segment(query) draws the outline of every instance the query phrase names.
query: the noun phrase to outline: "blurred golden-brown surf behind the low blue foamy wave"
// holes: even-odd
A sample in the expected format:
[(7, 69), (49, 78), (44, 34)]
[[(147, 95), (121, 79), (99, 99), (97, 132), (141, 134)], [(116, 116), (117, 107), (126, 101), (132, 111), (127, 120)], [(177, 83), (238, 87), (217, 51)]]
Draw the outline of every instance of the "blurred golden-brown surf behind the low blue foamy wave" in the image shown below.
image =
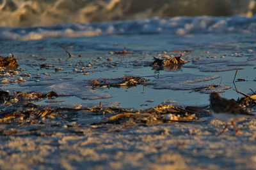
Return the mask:
[(0, 27), (255, 13), (256, 0), (0, 0)]

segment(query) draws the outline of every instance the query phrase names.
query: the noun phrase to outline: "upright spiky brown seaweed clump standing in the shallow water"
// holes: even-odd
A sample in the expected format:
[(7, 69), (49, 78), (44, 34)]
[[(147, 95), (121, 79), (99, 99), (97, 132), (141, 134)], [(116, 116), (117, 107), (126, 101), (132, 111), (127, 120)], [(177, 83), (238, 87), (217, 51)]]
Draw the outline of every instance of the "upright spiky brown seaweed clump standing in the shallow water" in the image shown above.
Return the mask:
[(188, 61), (181, 59), (182, 55), (173, 57), (172, 59), (159, 59), (154, 57), (154, 62), (152, 62), (152, 67), (156, 70), (177, 70), (180, 69), (183, 64)]

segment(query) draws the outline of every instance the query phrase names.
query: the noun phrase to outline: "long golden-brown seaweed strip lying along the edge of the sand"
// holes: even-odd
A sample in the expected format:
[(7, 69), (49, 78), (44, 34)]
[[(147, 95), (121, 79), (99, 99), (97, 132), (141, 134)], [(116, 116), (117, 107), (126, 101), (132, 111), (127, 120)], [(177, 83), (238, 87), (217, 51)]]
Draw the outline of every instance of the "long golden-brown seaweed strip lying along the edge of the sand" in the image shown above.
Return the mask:
[[(122, 124), (124, 127), (134, 127), (138, 125), (147, 126), (150, 124), (163, 124), (170, 122), (194, 122), (198, 118), (208, 116), (205, 110), (186, 110), (173, 105), (159, 104), (154, 108), (145, 110), (134, 110), (125, 108), (102, 107), (101, 104), (88, 108), (49, 108), (49, 106), (39, 106), (28, 103), (14, 103), (8, 110), (1, 111), (0, 122), (34, 124), (61, 118), (68, 122), (74, 122), (74, 118), (79, 111), (87, 111), (90, 115), (101, 117), (101, 121), (93, 123), (92, 126), (107, 124)], [(43, 122), (42, 122), (43, 121)]]

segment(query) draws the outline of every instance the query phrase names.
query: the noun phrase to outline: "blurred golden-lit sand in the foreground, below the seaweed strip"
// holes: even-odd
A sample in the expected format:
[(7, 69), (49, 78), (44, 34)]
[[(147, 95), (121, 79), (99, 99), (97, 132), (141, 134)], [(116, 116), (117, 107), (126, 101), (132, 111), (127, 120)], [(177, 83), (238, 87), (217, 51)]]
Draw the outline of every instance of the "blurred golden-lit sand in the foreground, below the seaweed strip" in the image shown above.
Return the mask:
[(1, 123), (0, 169), (256, 167), (256, 118), (237, 122), (239, 136), (234, 136), (232, 126), (218, 136), (225, 123), (212, 117), (132, 127), (88, 125), (93, 118), (88, 122), (85, 117), (81, 112), (70, 121)]

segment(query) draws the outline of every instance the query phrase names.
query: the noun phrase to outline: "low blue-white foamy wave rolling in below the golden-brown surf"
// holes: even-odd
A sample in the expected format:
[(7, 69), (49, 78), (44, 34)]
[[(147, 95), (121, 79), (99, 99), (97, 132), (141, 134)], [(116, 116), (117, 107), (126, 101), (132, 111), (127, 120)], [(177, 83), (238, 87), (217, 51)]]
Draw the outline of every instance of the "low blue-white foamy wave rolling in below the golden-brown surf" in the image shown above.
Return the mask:
[(35, 40), (74, 38), (109, 34), (199, 34), (256, 32), (256, 15), (243, 17), (171, 17), (95, 22), (92, 24), (58, 24), (48, 27), (0, 27), (0, 40)]

